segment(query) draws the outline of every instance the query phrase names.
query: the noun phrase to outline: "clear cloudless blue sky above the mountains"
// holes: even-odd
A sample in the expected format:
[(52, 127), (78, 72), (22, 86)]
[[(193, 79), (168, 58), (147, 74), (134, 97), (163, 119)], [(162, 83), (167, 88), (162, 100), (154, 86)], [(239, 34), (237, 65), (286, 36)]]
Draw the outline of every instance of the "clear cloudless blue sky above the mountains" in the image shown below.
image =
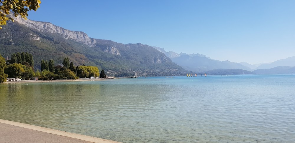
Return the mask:
[(41, 1), (29, 19), (92, 38), (250, 64), (295, 56), (294, 0)]

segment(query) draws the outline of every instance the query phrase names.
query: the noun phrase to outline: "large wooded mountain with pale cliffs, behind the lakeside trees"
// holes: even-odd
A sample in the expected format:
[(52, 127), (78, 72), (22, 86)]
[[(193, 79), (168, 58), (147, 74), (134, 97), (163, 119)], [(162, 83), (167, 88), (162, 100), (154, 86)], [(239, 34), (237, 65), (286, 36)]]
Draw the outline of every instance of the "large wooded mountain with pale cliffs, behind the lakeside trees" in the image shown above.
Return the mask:
[[(10, 15), (12, 16), (12, 15)], [(29, 52), (35, 68), (40, 69), (41, 59), (61, 64), (68, 56), (74, 65), (98, 66), (116, 76), (144, 74), (182, 75), (186, 71), (165, 54), (151, 46), (122, 44), (111, 40), (95, 39), (80, 31), (71, 31), (49, 22), (24, 20), (14, 17), (0, 30), (0, 54), (10, 58), (12, 53)]]

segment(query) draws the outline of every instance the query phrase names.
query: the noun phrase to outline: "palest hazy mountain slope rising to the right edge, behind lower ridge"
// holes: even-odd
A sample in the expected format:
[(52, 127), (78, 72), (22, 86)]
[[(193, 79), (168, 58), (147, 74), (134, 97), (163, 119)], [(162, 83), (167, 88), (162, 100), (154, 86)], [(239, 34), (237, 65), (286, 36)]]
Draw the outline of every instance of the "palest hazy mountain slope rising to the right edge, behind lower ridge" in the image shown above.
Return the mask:
[(287, 59), (277, 60), (269, 64), (261, 64), (256, 69), (271, 69), (277, 66), (295, 66), (295, 56), (289, 57)]

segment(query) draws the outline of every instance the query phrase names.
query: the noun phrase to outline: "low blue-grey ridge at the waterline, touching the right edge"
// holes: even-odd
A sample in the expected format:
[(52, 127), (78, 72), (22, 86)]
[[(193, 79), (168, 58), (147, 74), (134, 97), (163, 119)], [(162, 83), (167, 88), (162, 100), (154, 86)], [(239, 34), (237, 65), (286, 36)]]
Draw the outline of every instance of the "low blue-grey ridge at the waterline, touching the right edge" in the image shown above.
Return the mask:
[(295, 66), (277, 66), (271, 69), (257, 69), (256, 74), (295, 74)]

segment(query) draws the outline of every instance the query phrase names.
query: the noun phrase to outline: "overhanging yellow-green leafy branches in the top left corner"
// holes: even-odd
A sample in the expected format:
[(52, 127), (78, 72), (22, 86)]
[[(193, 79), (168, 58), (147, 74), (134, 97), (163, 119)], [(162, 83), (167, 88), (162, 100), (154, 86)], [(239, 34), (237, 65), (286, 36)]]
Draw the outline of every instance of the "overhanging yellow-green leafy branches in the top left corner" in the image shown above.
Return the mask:
[(27, 19), (28, 11), (36, 11), (40, 7), (40, 0), (1, 0), (0, 1), (0, 29), (1, 25), (5, 25), (7, 20), (13, 20), (8, 14), (13, 12), (14, 16)]

